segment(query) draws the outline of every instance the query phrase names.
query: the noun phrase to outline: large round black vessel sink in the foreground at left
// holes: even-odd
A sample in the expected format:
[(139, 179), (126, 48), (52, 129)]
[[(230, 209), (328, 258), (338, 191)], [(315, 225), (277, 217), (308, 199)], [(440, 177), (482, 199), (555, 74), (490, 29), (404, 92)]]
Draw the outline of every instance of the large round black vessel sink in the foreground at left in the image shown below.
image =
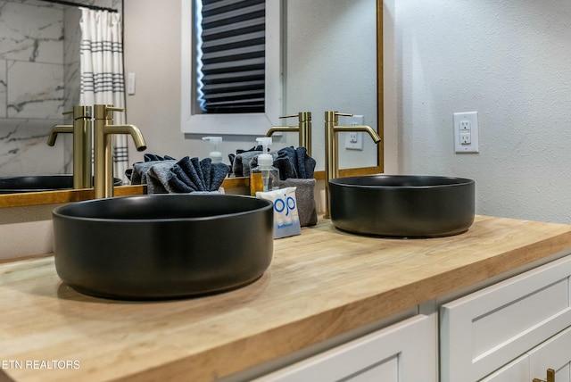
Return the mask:
[(273, 208), (241, 195), (138, 195), (53, 213), (55, 268), (79, 292), (148, 300), (204, 295), (260, 278)]

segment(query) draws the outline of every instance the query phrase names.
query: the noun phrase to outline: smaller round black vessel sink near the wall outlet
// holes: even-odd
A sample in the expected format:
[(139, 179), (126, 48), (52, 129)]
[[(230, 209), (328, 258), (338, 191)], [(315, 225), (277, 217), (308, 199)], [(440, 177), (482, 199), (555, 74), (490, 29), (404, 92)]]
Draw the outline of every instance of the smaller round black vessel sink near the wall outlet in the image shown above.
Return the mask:
[(329, 181), (330, 217), (336, 228), (383, 237), (446, 237), (474, 222), (471, 179), (372, 175)]

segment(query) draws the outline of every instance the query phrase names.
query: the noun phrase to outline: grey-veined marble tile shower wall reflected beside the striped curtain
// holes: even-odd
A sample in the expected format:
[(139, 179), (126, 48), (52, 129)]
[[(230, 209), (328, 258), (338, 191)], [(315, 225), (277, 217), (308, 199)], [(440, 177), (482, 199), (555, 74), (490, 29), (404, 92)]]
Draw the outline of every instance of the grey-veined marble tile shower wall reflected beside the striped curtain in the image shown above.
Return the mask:
[[(121, 0), (76, 3), (121, 9)], [(0, 0), (0, 177), (71, 172), (70, 135), (46, 141), (79, 104), (79, 18), (76, 7)]]

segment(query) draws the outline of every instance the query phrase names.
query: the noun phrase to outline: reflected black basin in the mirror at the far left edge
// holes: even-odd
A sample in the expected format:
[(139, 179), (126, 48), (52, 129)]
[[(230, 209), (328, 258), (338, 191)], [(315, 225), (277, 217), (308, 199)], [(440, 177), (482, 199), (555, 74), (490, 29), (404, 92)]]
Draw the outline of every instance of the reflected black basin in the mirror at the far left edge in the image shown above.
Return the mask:
[[(115, 186), (122, 184), (121, 179), (115, 178)], [(30, 175), (0, 178), (0, 194), (54, 191), (67, 188), (73, 188), (73, 175)]]

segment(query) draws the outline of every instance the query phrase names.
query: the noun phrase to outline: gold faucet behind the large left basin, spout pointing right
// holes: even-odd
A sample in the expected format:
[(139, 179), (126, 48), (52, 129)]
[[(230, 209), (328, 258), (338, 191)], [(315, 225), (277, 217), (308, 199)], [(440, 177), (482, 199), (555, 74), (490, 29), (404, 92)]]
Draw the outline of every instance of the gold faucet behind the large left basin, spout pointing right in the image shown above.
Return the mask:
[(145, 138), (134, 125), (113, 125), (113, 112), (124, 109), (111, 104), (95, 104), (95, 198), (113, 196), (113, 134), (129, 134), (137, 151), (146, 150)]

